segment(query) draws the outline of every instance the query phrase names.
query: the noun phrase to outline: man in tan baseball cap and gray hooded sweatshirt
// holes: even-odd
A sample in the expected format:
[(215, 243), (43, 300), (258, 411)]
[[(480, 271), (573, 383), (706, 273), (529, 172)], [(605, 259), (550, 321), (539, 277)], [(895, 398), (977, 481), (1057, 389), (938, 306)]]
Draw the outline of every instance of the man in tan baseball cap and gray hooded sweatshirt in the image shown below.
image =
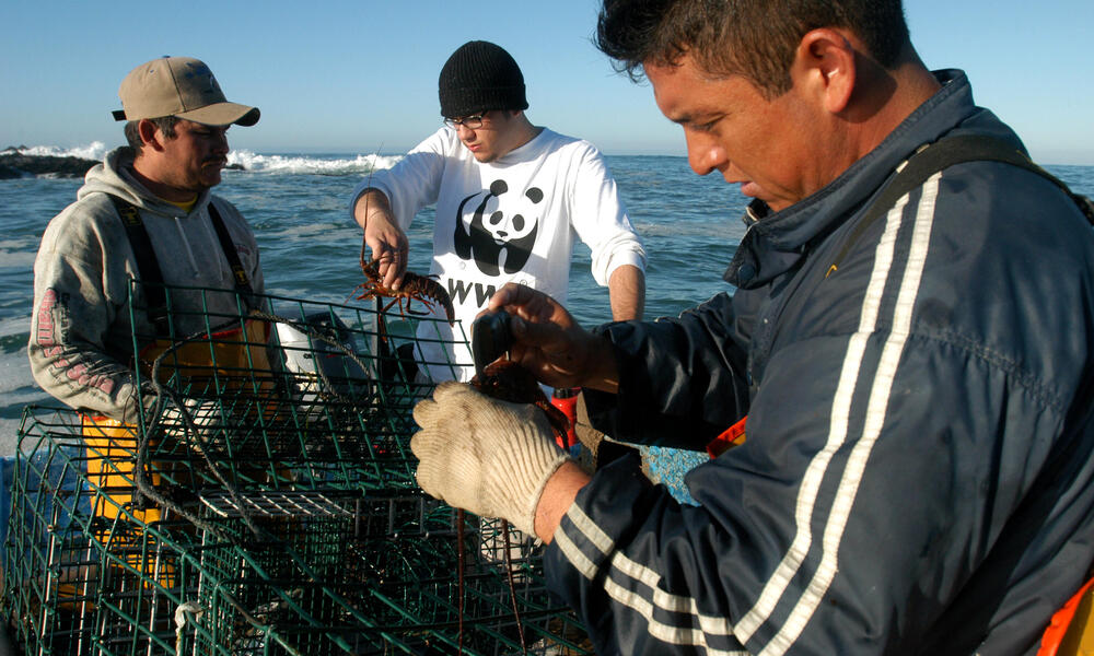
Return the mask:
[[(114, 117), (127, 121), (129, 145), (88, 172), (42, 237), (28, 354), (47, 393), (132, 424), (150, 406), (130, 364), (133, 336), (208, 330), (209, 317), (238, 315), (241, 295), (263, 292), (254, 233), (210, 194), (228, 163), (229, 127), (255, 125), (259, 113), (228, 102), (209, 67), (189, 57), (137, 67), (118, 95)], [(164, 285), (225, 291), (170, 290), (167, 320)]]

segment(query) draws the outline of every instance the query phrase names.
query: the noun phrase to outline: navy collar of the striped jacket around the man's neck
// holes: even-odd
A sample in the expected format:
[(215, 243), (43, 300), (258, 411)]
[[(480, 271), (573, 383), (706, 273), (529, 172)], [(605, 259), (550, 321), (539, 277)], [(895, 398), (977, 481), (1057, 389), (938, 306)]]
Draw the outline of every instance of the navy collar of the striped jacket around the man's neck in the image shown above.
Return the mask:
[(935, 71), (942, 84), (882, 143), (805, 200), (771, 212), (761, 200), (749, 203), (744, 238), (722, 276), (742, 289), (763, 286), (798, 263), (806, 246), (828, 234), (873, 196), (920, 145), (936, 141), (977, 110), (965, 73)]

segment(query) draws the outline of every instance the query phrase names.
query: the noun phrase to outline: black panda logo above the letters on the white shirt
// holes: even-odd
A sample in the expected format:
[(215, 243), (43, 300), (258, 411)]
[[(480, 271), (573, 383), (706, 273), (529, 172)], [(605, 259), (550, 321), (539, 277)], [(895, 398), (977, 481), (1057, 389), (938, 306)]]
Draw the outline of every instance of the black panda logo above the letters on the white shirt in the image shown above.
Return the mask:
[[(523, 269), (532, 257), (532, 247), (539, 232), (536, 206), (544, 199), (543, 190), (532, 187), (523, 197), (507, 196), (503, 210), (502, 196), (508, 191), (505, 180), (494, 180), (488, 190), (465, 198), (456, 212), (453, 239), (456, 255), (465, 260), (475, 260), (479, 271), (486, 276), (500, 276), (501, 271), (515, 273)], [(470, 224), (464, 227), (464, 208), (480, 196)]]

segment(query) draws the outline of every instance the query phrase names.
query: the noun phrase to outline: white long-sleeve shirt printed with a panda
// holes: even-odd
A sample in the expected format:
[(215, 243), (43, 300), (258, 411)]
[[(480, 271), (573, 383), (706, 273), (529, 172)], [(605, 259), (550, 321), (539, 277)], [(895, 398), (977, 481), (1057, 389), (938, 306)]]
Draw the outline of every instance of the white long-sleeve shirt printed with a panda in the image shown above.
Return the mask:
[[(430, 273), (452, 297), (456, 342), (469, 335), (475, 316), (508, 282), (565, 303), (574, 236), (592, 250), (593, 279), (602, 286), (620, 266), (645, 269), (645, 249), (600, 151), (548, 129), (504, 156), (480, 163), (455, 130), (444, 127), (392, 168), (362, 180), (351, 213), (368, 188), (387, 196), (404, 231), (422, 208), (437, 206)], [(444, 325), (422, 328), (433, 332), (419, 335), (429, 376), (469, 379), (474, 371), (466, 347), (454, 352), (430, 348), (435, 342), (429, 340), (453, 337)]]

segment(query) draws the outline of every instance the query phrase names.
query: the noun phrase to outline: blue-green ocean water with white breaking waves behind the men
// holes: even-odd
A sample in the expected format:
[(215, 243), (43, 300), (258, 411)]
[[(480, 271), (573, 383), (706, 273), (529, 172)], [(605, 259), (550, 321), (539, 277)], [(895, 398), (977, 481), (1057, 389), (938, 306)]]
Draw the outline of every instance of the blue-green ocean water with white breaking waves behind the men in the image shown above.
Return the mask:
[[(106, 147), (30, 154), (101, 159)], [(373, 167), (393, 154), (290, 154), (235, 151), (217, 192), (251, 222), (261, 250), (269, 293), (344, 302), (360, 282), (361, 231), (348, 213), (349, 195)], [(744, 234), (747, 198), (720, 176), (699, 177), (679, 156), (607, 156), (631, 221), (645, 244), (648, 319), (676, 316), (710, 296), (732, 291), (722, 272)], [(1094, 196), (1094, 166), (1048, 166), (1075, 191)], [(80, 179), (0, 180), (0, 456), (14, 453), (24, 406), (51, 402), (35, 385), (26, 360), (33, 263), (49, 220), (75, 199)], [(428, 272), (432, 210), (409, 232), (410, 269)], [(569, 309), (592, 326), (610, 318), (607, 290), (589, 272), (589, 249), (579, 244), (570, 279)]]

